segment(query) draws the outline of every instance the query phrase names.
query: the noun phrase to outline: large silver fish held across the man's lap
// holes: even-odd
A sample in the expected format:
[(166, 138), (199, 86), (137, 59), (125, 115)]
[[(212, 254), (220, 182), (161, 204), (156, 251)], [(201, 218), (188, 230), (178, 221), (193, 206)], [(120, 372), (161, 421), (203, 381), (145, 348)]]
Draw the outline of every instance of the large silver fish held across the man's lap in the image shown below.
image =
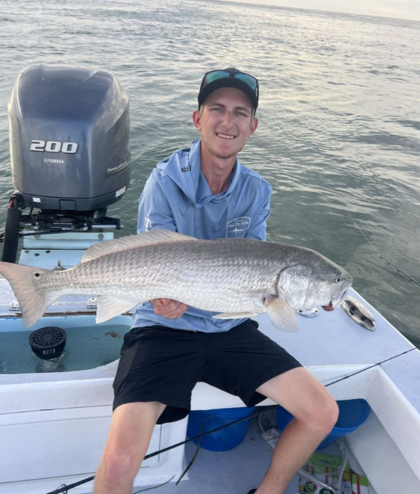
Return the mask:
[(30, 327), (60, 297), (93, 294), (96, 322), (151, 299), (174, 299), (217, 319), (267, 312), (279, 330), (296, 332), (296, 311), (334, 310), (353, 278), (309, 248), (246, 238), (203, 240), (154, 229), (94, 244), (79, 264), (47, 270), (0, 262)]

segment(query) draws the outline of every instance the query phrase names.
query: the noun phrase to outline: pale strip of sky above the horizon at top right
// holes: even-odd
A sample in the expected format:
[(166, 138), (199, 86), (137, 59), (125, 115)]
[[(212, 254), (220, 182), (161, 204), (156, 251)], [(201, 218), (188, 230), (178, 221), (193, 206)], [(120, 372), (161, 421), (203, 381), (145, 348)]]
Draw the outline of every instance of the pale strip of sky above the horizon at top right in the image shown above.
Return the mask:
[(420, 0), (229, 0), (420, 21)]

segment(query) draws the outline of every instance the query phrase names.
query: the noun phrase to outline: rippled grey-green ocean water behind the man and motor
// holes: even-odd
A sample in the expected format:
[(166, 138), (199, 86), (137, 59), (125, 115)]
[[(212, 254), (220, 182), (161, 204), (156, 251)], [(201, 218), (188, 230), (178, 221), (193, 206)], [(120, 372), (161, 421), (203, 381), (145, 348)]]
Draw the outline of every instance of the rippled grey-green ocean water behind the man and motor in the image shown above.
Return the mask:
[(204, 72), (261, 84), (241, 161), (271, 182), (268, 237), (313, 248), (420, 343), (420, 23), (216, 0), (0, 0), (0, 224), (13, 191), (7, 103), (34, 63), (108, 69), (131, 102), (132, 180), (109, 208), (135, 233), (155, 164), (197, 137)]

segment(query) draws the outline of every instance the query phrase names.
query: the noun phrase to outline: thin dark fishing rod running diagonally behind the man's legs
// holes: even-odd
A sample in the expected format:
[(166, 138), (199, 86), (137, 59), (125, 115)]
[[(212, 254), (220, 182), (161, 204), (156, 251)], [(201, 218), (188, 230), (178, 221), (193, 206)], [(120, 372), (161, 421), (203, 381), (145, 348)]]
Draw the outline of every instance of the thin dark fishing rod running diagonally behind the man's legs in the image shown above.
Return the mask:
[[(349, 374), (348, 376), (344, 376), (344, 377), (342, 377), (340, 379), (334, 380), (332, 383), (329, 383), (329, 384), (324, 385), (324, 387), (328, 387), (328, 386), (332, 386), (333, 384), (340, 383), (340, 381), (342, 381), (344, 379), (349, 379), (349, 378), (351, 378), (353, 376), (356, 376), (357, 374), (361, 374), (362, 372), (367, 371), (368, 369), (372, 369), (373, 367), (377, 367), (378, 365), (382, 365), (383, 363), (392, 361), (394, 358), (397, 358), (397, 357), (399, 357), (401, 355), (408, 354), (408, 353), (412, 352), (413, 350), (420, 350), (420, 347), (413, 347), (410, 350), (406, 350), (406, 352), (402, 352), (401, 354), (397, 354), (397, 355), (394, 355), (393, 357), (386, 358), (384, 361), (380, 361), (380, 362), (378, 362), (376, 364), (369, 365), (369, 367), (365, 367), (364, 369), (362, 369), (360, 371), (353, 372), (353, 374)], [(173, 444), (172, 446), (168, 446), (167, 448), (159, 449), (159, 451), (155, 451), (154, 453), (150, 453), (149, 455), (146, 455), (144, 457), (144, 460), (148, 460), (148, 458), (153, 458), (153, 456), (157, 456), (157, 455), (159, 455), (161, 453), (166, 453), (167, 451), (170, 451), (171, 449), (175, 449), (175, 448), (177, 448), (179, 446), (183, 446), (184, 444), (187, 444), (188, 442), (195, 441), (195, 440), (199, 440), (200, 441), (203, 436), (208, 436), (208, 434), (212, 434), (214, 432), (221, 431), (222, 429), (225, 429), (226, 427), (230, 427), (231, 425), (239, 424), (239, 422), (243, 422), (243, 420), (250, 420), (250, 418), (254, 418), (254, 417), (256, 417), (256, 416), (258, 416), (260, 414), (264, 414), (266, 411), (274, 410), (278, 406), (279, 405), (267, 405), (267, 407), (263, 407), (263, 409), (253, 411), (250, 415), (248, 415), (246, 417), (243, 417), (243, 418), (239, 418), (237, 420), (234, 420), (234, 422), (229, 422), (229, 424), (221, 425), (221, 427), (216, 427), (215, 429), (212, 429), (211, 431), (200, 433), (199, 436), (195, 436), (195, 438), (189, 438), (189, 439), (187, 439), (185, 441), (177, 442), (177, 444)], [(80, 486), (82, 484), (85, 484), (86, 482), (90, 482), (94, 478), (95, 478), (95, 475), (93, 475), (91, 477), (88, 477), (86, 479), (80, 480), (79, 482), (74, 482), (74, 484), (69, 484), (68, 486), (66, 486), (65, 484), (63, 484), (63, 486), (60, 486), (55, 491), (51, 491), (51, 492), (49, 492), (47, 494), (62, 494), (62, 493), (67, 493), (67, 491), (69, 491), (70, 489), (72, 489), (74, 487), (77, 487), (77, 486)]]

